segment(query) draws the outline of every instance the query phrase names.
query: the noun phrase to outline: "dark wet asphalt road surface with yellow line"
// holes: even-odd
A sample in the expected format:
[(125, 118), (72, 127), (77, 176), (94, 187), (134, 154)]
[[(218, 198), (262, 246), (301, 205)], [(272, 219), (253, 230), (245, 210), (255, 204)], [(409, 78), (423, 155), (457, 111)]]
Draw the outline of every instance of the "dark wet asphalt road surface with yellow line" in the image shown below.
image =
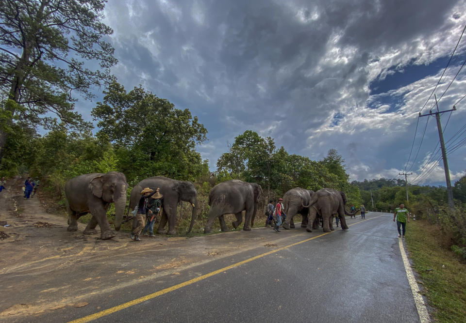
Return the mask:
[[(276, 239), (277, 246), (256, 241), (246, 251), (90, 295), (83, 308), (27, 321), (67, 322), (98, 313), (95, 322), (419, 322), (392, 219), (369, 213), (366, 220), (348, 219), (348, 231), (327, 234), (263, 228), (188, 239), (205, 244), (254, 235)], [(141, 262), (147, 257), (138, 255)]]

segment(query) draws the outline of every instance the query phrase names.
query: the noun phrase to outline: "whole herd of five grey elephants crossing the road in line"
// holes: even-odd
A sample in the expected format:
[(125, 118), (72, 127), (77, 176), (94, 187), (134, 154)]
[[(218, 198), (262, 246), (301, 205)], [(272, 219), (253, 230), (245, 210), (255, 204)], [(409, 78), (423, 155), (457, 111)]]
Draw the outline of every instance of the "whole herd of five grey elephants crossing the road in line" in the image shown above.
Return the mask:
[[(170, 178), (155, 176), (140, 181), (131, 190), (129, 210), (133, 210), (140, 198), (140, 192), (144, 187), (155, 190), (159, 187), (163, 194), (162, 217), (160, 219), (159, 234), (175, 234), (177, 205), (180, 201), (186, 201), (192, 205), (191, 224), (188, 233), (192, 230), (198, 209), (197, 190), (189, 181), (177, 181)], [(115, 230), (120, 230), (125, 213), (126, 191), (128, 183), (121, 172), (92, 173), (74, 177), (65, 185), (67, 199), (68, 231), (77, 231), (77, 220), (80, 216), (90, 213), (92, 215), (83, 234), (95, 234), (96, 226), (100, 226), (100, 238), (111, 239), (115, 232), (110, 228), (107, 220), (107, 210), (111, 203), (115, 203)], [(262, 187), (255, 183), (246, 183), (239, 180), (230, 180), (217, 184), (209, 193), (210, 211), (204, 233), (212, 231), (214, 220), (218, 217), (222, 231), (230, 231), (224, 219), (226, 214), (234, 214), (236, 221), (232, 222), (233, 228), (237, 228), (243, 222), (242, 212), (245, 211), (245, 223), (243, 230), (250, 231), (254, 225), (257, 213), (259, 197)], [(283, 196), (285, 214), (288, 216), (283, 223), (284, 229), (294, 228), (294, 215), (301, 214), (303, 221), (301, 227), (312, 232), (317, 229), (316, 216), (323, 218), (323, 230), (330, 232), (333, 229), (333, 215), (338, 215), (341, 227), (347, 230), (345, 210), (346, 195), (344, 192), (330, 188), (324, 188), (317, 192), (297, 187), (290, 189)], [(308, 219), (308, 220), (306, 220)], [(165, 227), (168, 223), (168, 231)]]

